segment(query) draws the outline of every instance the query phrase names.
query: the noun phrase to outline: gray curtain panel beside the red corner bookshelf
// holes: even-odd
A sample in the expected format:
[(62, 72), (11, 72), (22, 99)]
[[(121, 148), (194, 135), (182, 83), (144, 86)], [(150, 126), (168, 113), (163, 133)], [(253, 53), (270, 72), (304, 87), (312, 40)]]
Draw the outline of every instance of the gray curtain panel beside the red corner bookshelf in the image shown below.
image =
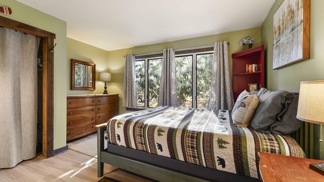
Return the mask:
[(232, 80), (229, 74), (228, 43), (214, 45), (213, 77), (208, 109), (232, 110), (234, 106)]

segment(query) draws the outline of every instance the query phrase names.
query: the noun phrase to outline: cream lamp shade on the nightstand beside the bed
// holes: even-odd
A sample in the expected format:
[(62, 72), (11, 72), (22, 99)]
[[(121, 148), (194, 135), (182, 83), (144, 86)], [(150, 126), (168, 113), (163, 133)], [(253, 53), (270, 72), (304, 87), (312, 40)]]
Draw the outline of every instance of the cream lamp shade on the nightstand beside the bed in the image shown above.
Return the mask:
[(297, 119), (324, 124), (324, 81), (300, 83)]

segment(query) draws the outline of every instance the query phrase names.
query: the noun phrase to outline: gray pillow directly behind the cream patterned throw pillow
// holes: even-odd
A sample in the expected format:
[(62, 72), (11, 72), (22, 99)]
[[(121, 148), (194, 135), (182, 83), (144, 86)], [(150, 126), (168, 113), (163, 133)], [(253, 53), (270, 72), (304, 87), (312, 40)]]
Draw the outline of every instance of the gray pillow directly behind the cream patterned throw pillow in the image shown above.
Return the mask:
[(276, 120), (281, 121), (278, 116), (286, 111), (288, 105), (286, 99), (290, 95), (292, 94), (286, 91), (271, 91), (261, 88), (257, 94), (259, 106), (250, 126), (256, 131), (270, 133), (271, 124)]

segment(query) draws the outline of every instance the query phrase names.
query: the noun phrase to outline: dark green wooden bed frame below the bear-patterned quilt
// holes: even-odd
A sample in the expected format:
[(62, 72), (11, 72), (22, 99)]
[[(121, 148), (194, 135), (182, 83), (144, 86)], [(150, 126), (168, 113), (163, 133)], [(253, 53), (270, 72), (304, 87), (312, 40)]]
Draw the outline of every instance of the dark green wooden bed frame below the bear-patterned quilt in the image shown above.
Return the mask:
[[(112, 153), (108, 152), (107, 149), (104, 149), (104, 142), (107, 142), (104, 139), (104, 131), (106, 129), (106, 123), (97, 125), (97, 138), (98, 138), (98, 177), (103, 176), (103, 167), (104, 163), (119, 167), (121, 169), (157, 180), (157, 181), (259, 181), (257, 178), (252, 178), (244, 175), (234, 174), (230, 172), (225, 172), (221, 170), (211, 169), (195, 164), (190, 164), (187, 162), (167, 158), (164, 156), (158, 156), (161, 160), (168, 160), (168, 162), (165, 162), (165, 164), (155, 165), (149, 162), (143, 162), (141, 160), (135, 160), (130, 157), (127, 157), (126, 155), (123, 155), (123, 152)], [(119, 148), (118, 148), (119, 147)], [(136, 151), (137, 153), (135, 155), (141, 155), (142, 153), (145, 153), (146, 155), (154, 155), (155, 154), (149, 154), (143, 151), (137, 151), (134, 149), (128, 149), (121, 146), (116, 146), (117, 150), (120, 149), (120, 151)], [(125, 154), (125, 152), (124, 152)], [(177, 165), (170, 165), (173, 164), (172, 162), (177, 163)], [(188, 171), (179, 169), (177, 166), (189, 166)], [(192, 166), (194, 166), (192, 168)], [(191, 169), (190, 169), (191, 168)], [(201, 175), (201, 173), (197, 172), (196, 175), (192, 175), (192, 173), (195, 173), (196, 171), (194, 168), (204, 168), (203, 170), (206, 170), (204, 175)], [(208, 177), (206, 177), (206, 175)]]

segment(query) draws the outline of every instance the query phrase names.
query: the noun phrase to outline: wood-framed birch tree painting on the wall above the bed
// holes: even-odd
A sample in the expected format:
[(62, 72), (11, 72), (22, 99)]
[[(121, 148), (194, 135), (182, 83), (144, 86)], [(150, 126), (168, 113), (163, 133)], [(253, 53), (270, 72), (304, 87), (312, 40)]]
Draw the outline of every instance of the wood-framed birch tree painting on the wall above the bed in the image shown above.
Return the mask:
[(284, 0), (273, 15), (273, 69), (309, 59), (310, 0)]

